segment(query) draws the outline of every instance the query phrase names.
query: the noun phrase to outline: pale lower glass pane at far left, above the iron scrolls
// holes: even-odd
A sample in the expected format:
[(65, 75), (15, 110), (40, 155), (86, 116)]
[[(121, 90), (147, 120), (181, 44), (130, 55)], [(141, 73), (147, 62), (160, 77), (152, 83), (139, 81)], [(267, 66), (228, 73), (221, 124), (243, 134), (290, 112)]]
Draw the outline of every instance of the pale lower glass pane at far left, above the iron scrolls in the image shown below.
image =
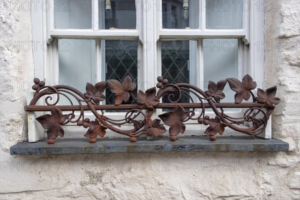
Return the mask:
[[(59, 84), (84, 93), (86, 82), (95, 83), (95, 40), (58, 39), (58, 66)], [(69, 104), (66, 98), (60, 101)]]

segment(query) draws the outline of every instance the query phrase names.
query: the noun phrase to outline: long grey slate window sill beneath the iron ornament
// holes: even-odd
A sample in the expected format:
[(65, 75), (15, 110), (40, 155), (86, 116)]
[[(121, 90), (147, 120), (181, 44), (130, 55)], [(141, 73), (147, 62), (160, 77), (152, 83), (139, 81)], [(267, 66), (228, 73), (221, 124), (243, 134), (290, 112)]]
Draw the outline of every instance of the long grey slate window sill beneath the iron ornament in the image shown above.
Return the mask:
[(219, 136), (210, 141), (208, 136), (181, 136), (176, 141), (168, 137), (156, 140), (137, 138), (56, 139), (54, 144), (46, 141), (21, 142), (10, 147), (11, 155), (64, 154), (64, 153), (112, 153), (112, 152), (159, 152), (159, 151), (236, 151), (236, 150), (288, 150), (288, 143), (280, 139), (263, 139), (257, 136)]

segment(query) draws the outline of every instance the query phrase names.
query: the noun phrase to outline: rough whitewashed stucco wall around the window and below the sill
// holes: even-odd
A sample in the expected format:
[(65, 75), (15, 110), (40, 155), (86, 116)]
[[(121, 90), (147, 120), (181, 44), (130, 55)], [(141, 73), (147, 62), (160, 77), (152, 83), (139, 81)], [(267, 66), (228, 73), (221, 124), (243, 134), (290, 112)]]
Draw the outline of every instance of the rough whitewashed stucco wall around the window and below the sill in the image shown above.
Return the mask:
[[(1, 43), (0, 198), (299, 199), (300, 3), (267, 3), (265, 80), (281, 98), (272, 132), (289, 151), (11, 156), (9, 147), (26, 140), (22, 82), (34, 68), (32, 51)], [(1, 10), (0, 28), (1, 41), (30, 41), (30, 12)]]

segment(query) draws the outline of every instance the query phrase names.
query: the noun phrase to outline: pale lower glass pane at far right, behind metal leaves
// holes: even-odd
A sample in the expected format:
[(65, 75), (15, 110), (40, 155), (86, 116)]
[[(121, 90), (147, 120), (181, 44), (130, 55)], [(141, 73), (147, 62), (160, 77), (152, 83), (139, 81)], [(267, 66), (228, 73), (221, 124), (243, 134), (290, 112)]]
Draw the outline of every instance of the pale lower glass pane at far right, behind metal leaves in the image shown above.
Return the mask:
[[(204, 82), (207, 90), (208, 81), (215, 83), (229, 77), (238, 78), (238, 40), (236, 38), (203, 39)], [(226, 84), (223, 90), (225, 98), (221, 102), (234, 102), (234, 94)], [(231, 109), (232, 110), (232, 109)]]

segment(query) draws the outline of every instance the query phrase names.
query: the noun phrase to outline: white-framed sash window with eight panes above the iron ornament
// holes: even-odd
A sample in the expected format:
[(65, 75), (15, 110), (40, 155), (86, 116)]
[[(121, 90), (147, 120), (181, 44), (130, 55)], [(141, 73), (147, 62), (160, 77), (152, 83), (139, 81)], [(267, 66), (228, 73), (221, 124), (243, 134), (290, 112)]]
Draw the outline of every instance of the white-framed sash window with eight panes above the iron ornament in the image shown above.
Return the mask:
[[(86, 82), (129, 75), (137, 92), (155, 86), (162, 75), (205, 91), (208, 80), (241, 79), (246, 73), (262, 84), (263, 51), (257, 42), (263, 44), (264, 13), (257, 5), (263, 0), (46, 2), (49, 10), (32, 13), (32, 34), (48, 43), (49, 50), (33, 53), (35, 76), (50, 84), (84, 92)], [(228, 92), (224, 101), (233, 101), (233, 95)], [(112, 104), (113, 95), (106, 91), (105, 96), (102, 103)], [(181, 102), (188, 101), (182, 96)]]

